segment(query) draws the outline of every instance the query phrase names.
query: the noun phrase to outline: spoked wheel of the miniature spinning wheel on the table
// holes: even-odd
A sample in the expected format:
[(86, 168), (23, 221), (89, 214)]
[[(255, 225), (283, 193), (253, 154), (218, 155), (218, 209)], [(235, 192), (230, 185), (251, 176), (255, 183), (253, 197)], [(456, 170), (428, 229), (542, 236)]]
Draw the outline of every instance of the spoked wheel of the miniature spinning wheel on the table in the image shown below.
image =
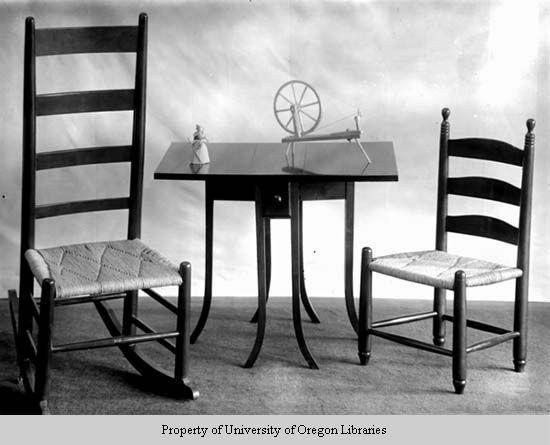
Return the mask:
[[(294, 88), (295, 85), (300, 85), (300, 90), (298, 91), (299, 99), (296, 97), (297, 90)], [(292, 90), (292, 95), (283, 94), (283, 91), (290, 87)], [(302, 101), (306, 97), (306, 93), (310, 92), (310, 94), (313, 94), (314, 100), (311, 102), (308, 102), (306, 104), (302, 104)], [(285, 102), (288, 103), (288, 108), (280, 108), (277, 109), (277, 102), (279, 98), (282, 98)], [(294, 102), (292, 101), (294, 100)], [(317, 105), (317, 111), (313, 112), (313, 115), (311, 113), (311, 110), (304, 111), (302, 108), (307, 107), (314, 107)], [(283, 130), (285, 130), (287, 133), (290, 134), (296, 134), (294, 130), (293, 125), (293, 108), (292, 107), (298, 107), (298, 115), (302, 114), (306, 116), (310, 121), (313, 121), (313, 124), (311, 126), (305, 126), (304, 129), (303, 122), (301, 121), (301, 127), (303, 131), (301, 132), (301, 135), (306, 135), (308, 133), (311, 133), (314, 131), (319, 123), (321, 122), (321, 115), (322, 115), (322, 107), (321, 107), (321, 99), (319, 98), (319, 95), (317, 94), (317, 91), (308, 84), (307, 82), (304, 82), (303, 80), (289, 80), (288, 82), (283, 83), (277, 92), (275, 93), (275, 98), (273, 99), (273, 113), (275, 114), (275, 119), (277, 119), (277, 122), (281, 126)], [(313, 110), (314, 108), (312, 108)], [(290, 113), (290, 119), (284, 123), (283, 120), (280, 118), (280, 114), (282, 113)]]

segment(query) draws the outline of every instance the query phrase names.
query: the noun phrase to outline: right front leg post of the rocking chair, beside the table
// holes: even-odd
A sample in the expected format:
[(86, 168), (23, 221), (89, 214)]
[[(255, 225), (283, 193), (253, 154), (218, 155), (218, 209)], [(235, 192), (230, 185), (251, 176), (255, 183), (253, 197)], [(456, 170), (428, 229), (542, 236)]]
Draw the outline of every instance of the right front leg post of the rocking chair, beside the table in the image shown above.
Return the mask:
[(182, 283), (178, 287), (178, 313), (176, 329), (176, 360), (174, 378), (184, 380), (189, 373), (189, 322), (191, 319), (191, 264), (180, 264), (179, 273)]

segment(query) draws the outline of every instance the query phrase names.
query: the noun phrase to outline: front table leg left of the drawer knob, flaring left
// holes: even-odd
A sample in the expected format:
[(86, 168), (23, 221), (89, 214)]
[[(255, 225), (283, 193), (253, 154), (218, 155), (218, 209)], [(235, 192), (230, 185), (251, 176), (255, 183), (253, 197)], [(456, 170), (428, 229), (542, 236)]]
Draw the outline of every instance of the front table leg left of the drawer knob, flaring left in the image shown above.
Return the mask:
[(256, 341), (252, 351), (244, 364), (245, 368), (254, 366), (258, 358), (265, 334), (266, 302), (267, 302), (267, 270), (266, 270), (266, 221), (262, 215), (262, 195), (260, 188), (256, 187), (256, 244), (258, 257), (258, 323), (256, 327)]

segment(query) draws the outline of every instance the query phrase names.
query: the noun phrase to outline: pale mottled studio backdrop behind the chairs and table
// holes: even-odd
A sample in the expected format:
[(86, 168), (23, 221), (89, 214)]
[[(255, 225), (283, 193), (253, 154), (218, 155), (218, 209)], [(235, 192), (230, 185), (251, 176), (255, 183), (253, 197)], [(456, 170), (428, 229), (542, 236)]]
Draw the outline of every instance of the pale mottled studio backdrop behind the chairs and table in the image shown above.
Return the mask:
[[(531, 299), (550, 301), (545, 292), (550, 287), (550, 5), (545, 1), (0, 2), (0, 297), (17, 286), (19, 274), (25, 17), (33, 16), (37, 28), (136, 25), (142, 11), (149, 15), (142, 238), (173, 262), (192, 263), (193, 295), (204, 287), (204, 185), (154, 180), (153, 172), (169, 145), (191, 138), (196, 124), (210, 142), (280, 141), (285, 134), (273, 115), (273, 97), (284, 82), (300, 79), (319, 93), (326, 131), (352, 128), (349, 116), (360, 109), (362, 140), (394, 143), (399, 181), (356, 186), (356, 292), (361, 247), (383, 255), (435, 246), (443, 107), (451, 109), (451, 137), (495, 138), (518, 147), (526, 119), (535, 118)], [(132, 88), (134, 63), (129, 54), (43, 57), (37, 63), (38, 93)], [(131, 113), (115, 114), (116, 119), (102, 113), (40, 118), (37, 150), (128, 144)], [(453, 161), (451, 173), (474, 176), (472, 165)], [(124, 196), (127, 168), (40, 171), (38, 203)], [(519, 184), (513, 167), (499, 168), (500, 179)], [(469, 213), (517, 225), (514, 206), (477, 201), (472, 208), (469, 200)], [(451, 197), (456, 213), (463, 204)], [(38, 221), (37, 246), (121, 239), (126, 217), (126, 211), (117, 211)], [(256, 294), (254, 224), (252, 203), (216, 203), (215, 296)], [(343, 228), (342, 202), (305, 204), (311, 296), (343, 296)], [(272, 236), (271, 294), (289, 296), (288, 221), (275, 221)], [(449, 250), (515, 264), (513, 246), (496, 241), (451, 234)], [(374, 286), (375, 295), (384, 288), (378, 294), (431, 297), (429, 289), (382, 276)], [(511, 286), (472, 294), (498, 300), (513, 295)]]

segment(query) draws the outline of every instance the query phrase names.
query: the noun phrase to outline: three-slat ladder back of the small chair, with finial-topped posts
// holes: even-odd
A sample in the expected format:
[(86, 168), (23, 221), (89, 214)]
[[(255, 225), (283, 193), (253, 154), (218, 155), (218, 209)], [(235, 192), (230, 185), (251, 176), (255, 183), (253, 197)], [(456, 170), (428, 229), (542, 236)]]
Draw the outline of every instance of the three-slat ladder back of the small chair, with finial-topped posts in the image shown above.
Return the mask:
[[(437, 199), (436, 249), (447, 250), (447, 232), (474, 235), (513, 244), (517, 249), (517, 267), (528, 276), (531, 202), (533, 190), (534, 119), (526, 122), (523, 150), (494, 139), (450, 139), (448, 108), (441, 111), (439, 138), (439, 181)], [(521, 186), (491, 177), (449, 177), (451, 156), (501, 162), (521, 168)], [(491, 166), (488, 165), (488, 168)], [(489, 199), (519, 207), (517, 224), (482, 215), (449, 216), (448, 195)]]

